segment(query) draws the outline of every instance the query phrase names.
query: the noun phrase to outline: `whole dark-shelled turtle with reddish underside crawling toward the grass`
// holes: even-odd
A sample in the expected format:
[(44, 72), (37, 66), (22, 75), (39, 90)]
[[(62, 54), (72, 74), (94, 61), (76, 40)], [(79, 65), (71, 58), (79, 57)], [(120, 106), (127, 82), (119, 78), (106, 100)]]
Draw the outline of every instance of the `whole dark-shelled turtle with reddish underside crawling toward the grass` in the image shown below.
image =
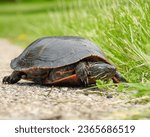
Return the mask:
[(29, 80), (40, 85), (90, 86), (97, 80), (127, 82), (92, 41), (79, 36), (47, 36), (11, 60), (4, 84)]

